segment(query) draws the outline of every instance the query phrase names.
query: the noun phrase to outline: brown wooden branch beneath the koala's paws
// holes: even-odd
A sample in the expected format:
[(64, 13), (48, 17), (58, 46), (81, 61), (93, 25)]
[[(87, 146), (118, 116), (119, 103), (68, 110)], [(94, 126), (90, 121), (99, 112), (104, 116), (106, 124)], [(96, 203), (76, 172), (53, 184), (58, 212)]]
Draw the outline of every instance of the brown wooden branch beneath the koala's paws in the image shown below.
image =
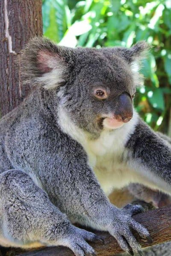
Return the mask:
[[(162, 207), (156, 210), (148, 211), (146, 213), (137, 214), (133, 217), (136, 221), (141, 223), (143, 226), (145, 226), (148, 231), (150, 232), (151, 237), (153, 238), (154, 244), (160, 244), (166, 241), (171, 241), (171, 206)], [(94, 232), (94, 231), (93, 231)], [(111, 235), (109, 235), (106, 232), (97, 232), (98, 235), (104, 235), (105, 238), (105, 244), (102, 242), (97, 243), (90, 243), (95, 251), (97, 252), (97, 255), (99, 256), (112, 256), (117, 253), (121, 253), (122, 250), (118, 246), (115, 238), (113, 238)], [(134, 233), (137, 240), (141, 241), (139, 238), (139, 235)], [(147, 247), (149, 244), (140, 242), (142, 247)], [(41, 248), (36, 251), (31, 251), (27, 253), (19, 254), (22, 256), (73, 256), (74, 253), (71, 252), (68, 248), (65, 247), (46, 247)]]

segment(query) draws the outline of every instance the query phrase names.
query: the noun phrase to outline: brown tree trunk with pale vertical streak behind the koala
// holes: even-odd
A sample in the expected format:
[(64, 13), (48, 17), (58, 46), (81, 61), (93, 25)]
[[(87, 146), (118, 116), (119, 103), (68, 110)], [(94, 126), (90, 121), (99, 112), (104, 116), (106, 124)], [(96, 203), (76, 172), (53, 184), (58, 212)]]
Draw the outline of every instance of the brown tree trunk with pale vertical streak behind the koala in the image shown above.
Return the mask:
[(42, 36), (41, 0), (0, 0), (0, 116), (28, 94), (16, 57), (34, 36)]

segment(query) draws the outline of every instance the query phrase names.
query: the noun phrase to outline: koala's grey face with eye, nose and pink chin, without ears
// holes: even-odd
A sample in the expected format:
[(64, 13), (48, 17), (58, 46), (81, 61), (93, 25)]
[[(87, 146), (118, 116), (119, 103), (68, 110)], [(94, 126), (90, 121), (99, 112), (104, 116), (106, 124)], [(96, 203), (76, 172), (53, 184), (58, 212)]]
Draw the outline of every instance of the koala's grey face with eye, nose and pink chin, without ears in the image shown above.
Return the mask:
[(121, 127), (133, 117), (133, 72), (115, 54), (109, 59), (100, 50), (83, 50), (84, 58), (82, 52), (77, 55), (77, 75), (65, 89), (65, 108), (78, 126), (91, 133)]

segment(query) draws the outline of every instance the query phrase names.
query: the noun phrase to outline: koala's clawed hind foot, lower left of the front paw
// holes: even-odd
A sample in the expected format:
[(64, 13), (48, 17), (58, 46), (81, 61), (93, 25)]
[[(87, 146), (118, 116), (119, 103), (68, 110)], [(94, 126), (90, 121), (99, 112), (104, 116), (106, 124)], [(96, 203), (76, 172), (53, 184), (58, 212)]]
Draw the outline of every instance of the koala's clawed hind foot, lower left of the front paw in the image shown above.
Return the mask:
[(86, 253), (95, 255), (94, 249), (86, 241), (97, 240), (101, 241), (102, 238), (84, 229), (70, 226), (60, 240), (60, 245), (69, 247), (76, 256), (85, 256)]

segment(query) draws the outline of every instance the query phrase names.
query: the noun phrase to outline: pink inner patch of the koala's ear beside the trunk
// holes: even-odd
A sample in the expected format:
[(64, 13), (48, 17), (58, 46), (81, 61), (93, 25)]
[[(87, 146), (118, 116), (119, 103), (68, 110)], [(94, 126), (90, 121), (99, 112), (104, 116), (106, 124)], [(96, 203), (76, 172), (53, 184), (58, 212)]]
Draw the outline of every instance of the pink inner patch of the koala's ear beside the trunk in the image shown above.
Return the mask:
[(42, 73), (50, 72), (56, 66), (55, 57), (49, 51), (39, 51), (37, 55), (38, 69)]

